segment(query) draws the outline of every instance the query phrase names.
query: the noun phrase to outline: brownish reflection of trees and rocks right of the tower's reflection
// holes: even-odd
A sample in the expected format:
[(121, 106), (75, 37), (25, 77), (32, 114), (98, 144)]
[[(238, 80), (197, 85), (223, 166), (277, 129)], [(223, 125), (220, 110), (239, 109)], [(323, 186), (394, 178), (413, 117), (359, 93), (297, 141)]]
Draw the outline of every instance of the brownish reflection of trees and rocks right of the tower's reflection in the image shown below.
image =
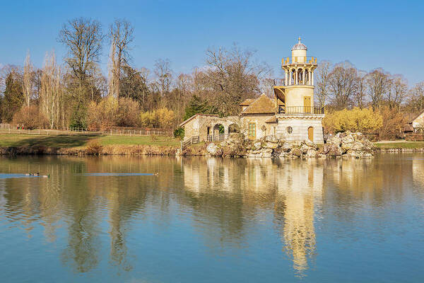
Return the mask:
[(411, 175), (411, 161), (399, 160), (401, 156), (382, 156), (376, 159), (327, 159), (325, 202), (336, 207), (340, 219), (351, 219), (358, 204), (371, 204), (379, 213), (389, 200), (401, 200), (405, 177)]

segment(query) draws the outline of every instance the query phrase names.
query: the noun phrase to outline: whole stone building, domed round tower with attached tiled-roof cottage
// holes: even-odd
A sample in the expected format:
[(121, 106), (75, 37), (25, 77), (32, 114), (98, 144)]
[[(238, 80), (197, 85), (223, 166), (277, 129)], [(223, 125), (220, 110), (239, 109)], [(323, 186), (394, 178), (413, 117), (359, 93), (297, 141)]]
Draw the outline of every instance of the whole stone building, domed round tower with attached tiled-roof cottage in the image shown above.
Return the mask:
[(240, 104), (239, 116), (196, 114), (179, 125), (184, 127), (185, 138), (216, 141), (231, 132), (243, 132), (249, 139), (272, 135), (287, 141), (310, 139), (323, 144), (324, 108), (314, 106), (317, 58), (307, 57), (307, 47), (300, 37), (291, 51), (291, 57), (283, 58), (281, 64), (285, 78), (273, 80), (273, 99), (264, 94), (247, 99)]

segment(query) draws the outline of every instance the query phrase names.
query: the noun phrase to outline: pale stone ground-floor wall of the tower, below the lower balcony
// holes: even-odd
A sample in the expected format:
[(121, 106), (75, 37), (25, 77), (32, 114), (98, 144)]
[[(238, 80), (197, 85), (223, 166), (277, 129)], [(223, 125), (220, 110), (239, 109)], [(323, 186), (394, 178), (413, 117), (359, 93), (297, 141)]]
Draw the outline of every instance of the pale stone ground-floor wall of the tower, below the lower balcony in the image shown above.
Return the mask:
[[(293, 132), (288, 133), (287, 128), (292, 127)], [(286, 141), (303, 141), (308, 139), (308, 128), (314, 128), (313, 141), (315, 144), (324, 144), (324, 133), (322, 132), (322, 117), (278, 117), (276, 137), (284, 138)]]

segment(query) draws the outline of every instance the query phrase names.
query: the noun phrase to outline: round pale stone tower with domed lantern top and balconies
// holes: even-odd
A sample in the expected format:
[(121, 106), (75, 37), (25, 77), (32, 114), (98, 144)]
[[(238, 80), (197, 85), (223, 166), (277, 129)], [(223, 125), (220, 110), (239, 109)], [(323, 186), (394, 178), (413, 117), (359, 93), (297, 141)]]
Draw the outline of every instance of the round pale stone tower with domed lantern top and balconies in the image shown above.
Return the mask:
[(284, 79), (273, 80), (276, 108), (276, 135), (287, 141), (310, 139), (323, 144), (324, 108), (314, 106), (314, 70), (317, 58), (307, 56), (307, 47), (300, 42), (291, 50), (291, 57), (281, 61)]

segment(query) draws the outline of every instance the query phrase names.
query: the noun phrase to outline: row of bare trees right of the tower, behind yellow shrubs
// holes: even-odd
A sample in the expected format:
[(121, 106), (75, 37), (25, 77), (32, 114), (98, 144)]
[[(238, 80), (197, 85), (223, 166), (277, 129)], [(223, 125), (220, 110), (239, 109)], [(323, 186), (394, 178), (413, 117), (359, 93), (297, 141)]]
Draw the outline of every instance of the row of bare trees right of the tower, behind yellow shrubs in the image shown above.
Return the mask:
[(424, 110), (424, 81), (408, 88), (401, 74), (378, 68), (361, 71), (350, 62), (319, 62), (315, 81), (315, 100), (328, 110), (378, 108), (402, 112)]

